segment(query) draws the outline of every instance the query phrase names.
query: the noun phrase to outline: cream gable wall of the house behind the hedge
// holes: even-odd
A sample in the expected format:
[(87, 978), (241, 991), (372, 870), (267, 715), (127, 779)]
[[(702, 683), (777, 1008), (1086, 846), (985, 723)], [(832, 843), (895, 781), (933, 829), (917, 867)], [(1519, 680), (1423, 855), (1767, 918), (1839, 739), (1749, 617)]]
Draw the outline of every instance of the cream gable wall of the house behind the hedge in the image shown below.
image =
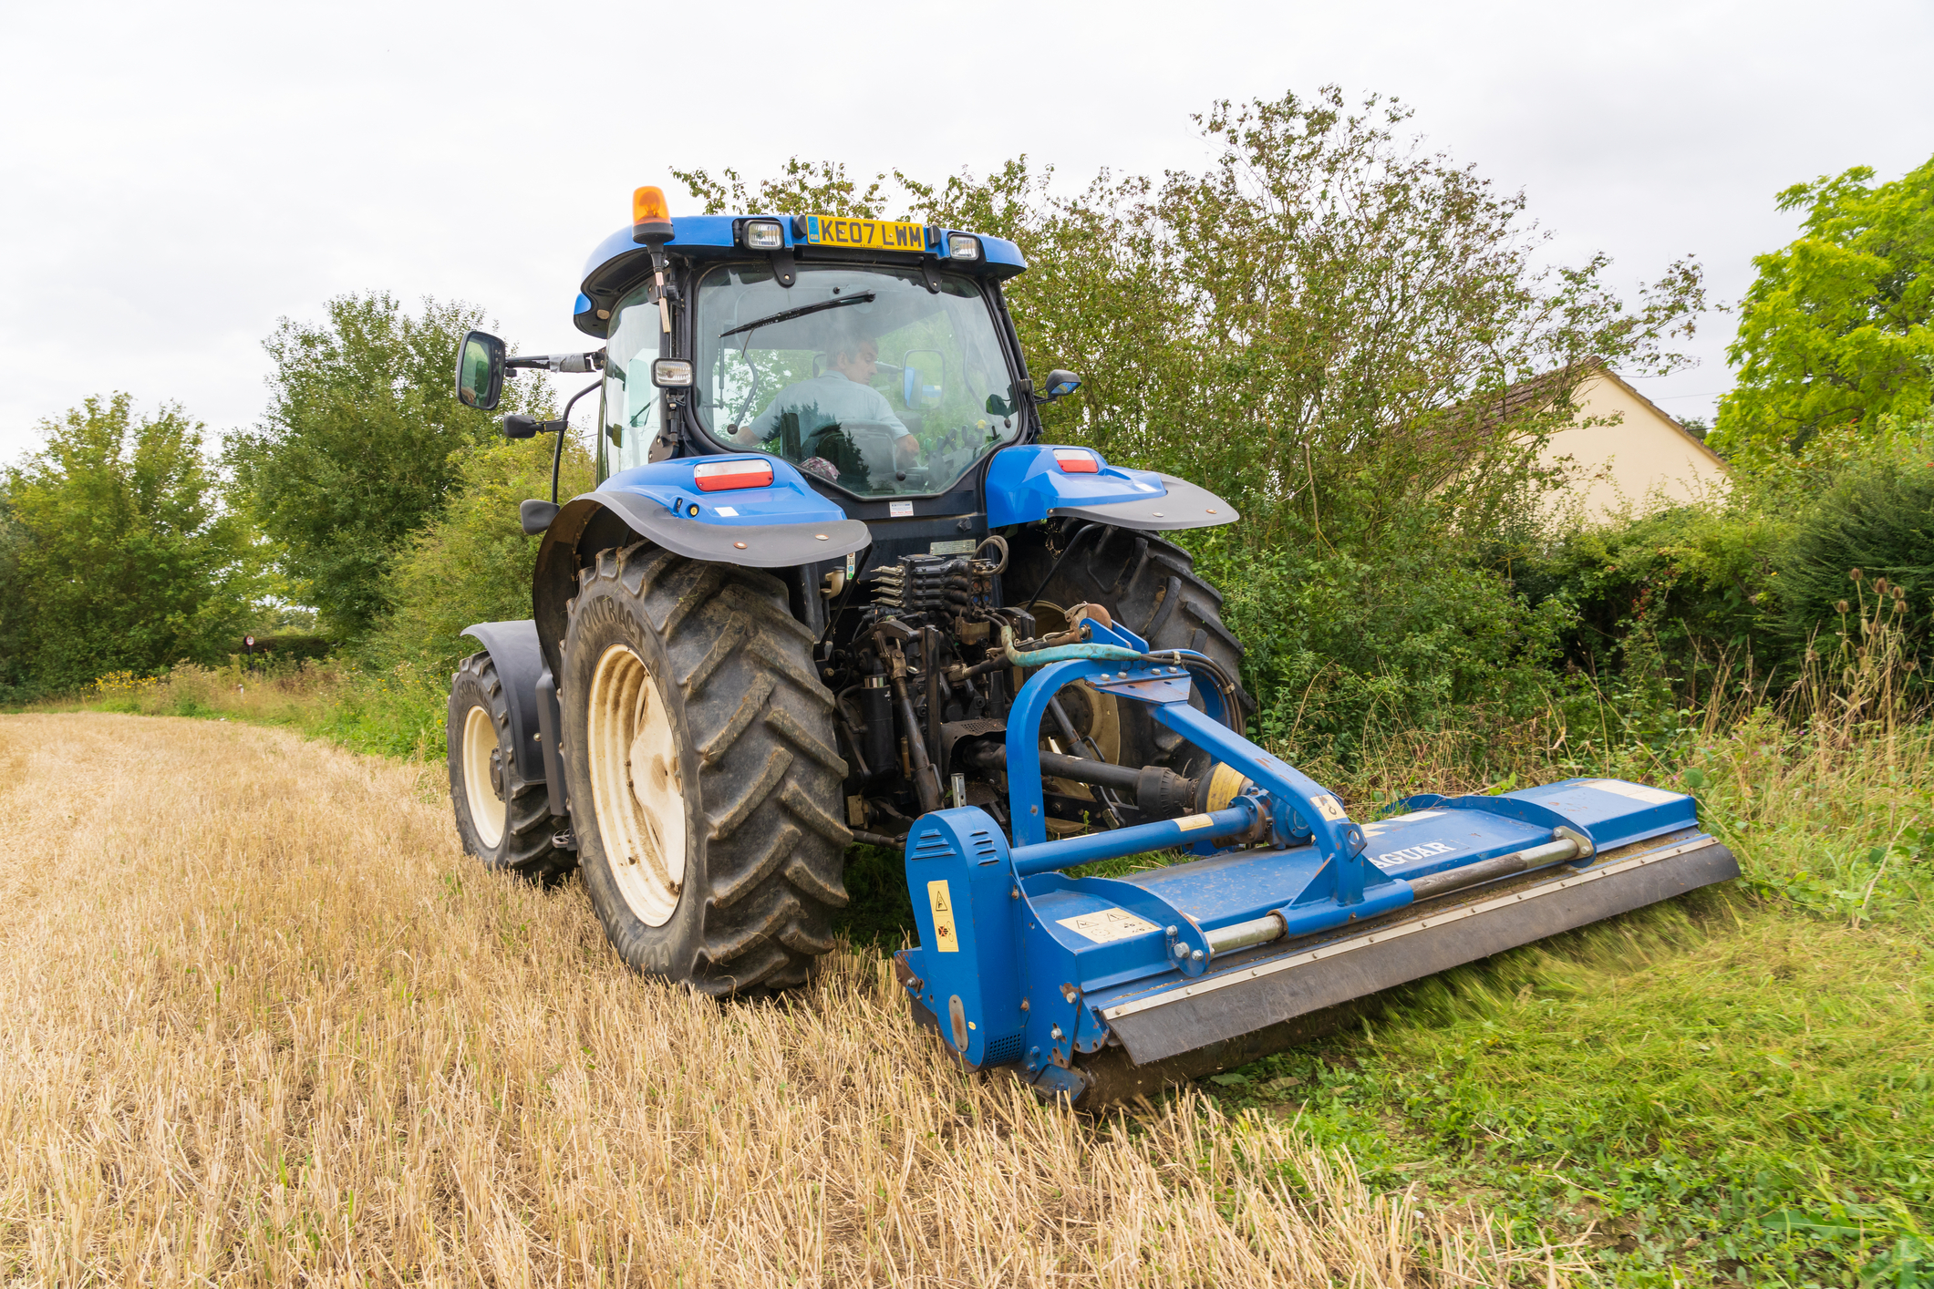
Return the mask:
[(1725, 487), (1725, 466), (1706, 444), (1665, 419), (1619, 381), (1596, 377), (1578, 394), (1574, 425), (1551, 435), (1543, 464), (1570, 456), (1572, 487), (1561, 504), (1580, 504), (1586, 520), (1601, 520), (1626, 504), (1644, 510), (1654, 493), (1685, 502)]

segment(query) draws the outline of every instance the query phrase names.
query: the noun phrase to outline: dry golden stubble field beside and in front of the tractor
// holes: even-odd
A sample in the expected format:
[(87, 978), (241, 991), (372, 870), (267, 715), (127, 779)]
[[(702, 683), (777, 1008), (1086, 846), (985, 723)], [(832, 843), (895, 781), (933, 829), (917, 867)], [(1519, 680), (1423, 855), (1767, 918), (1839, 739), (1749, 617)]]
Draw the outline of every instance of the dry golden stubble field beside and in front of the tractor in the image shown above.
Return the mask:
[(0, 719), (0, 765), (8, 1279), (1567, 1279), (1282, 1121), (967, 1076), (876, 957), (787, 1005), (632, 976), (424, 767), (101, 713)]

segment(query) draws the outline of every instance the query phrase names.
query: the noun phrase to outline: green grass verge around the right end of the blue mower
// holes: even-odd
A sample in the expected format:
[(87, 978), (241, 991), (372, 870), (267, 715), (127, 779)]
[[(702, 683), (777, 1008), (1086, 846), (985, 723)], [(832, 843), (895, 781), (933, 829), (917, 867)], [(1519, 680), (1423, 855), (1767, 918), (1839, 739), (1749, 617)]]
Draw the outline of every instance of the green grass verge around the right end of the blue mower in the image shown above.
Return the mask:
[(1354, 804), (1460, 769), (1694, 790), (1744, 879), (1392, 991), (1205, 1088), (1373, 1181), (1582, 1235), (1617, 1283), (1934, 1279), (1934, 727), (1872, 696), (1715, 703), (1592, 761), (1371, 765)]

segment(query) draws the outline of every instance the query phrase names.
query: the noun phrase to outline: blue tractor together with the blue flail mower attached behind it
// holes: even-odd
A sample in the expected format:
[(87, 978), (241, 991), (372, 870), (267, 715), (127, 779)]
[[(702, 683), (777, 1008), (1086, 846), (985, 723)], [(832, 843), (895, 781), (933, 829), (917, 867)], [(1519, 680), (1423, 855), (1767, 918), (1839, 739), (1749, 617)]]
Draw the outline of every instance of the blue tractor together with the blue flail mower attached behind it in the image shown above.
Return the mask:
[[(1002, 298), (1025, 267), (930, 224), (673, 220), (642, 187), (576, 298), (601, 348), (464, 338), (472, 408), (518, 369), (601, 373), (576, 396), (596, 491), (522, 506), (536, 616), (472, 626), (453, 676), (472, 854), (576, 868), (632, 968), (750, 995), (832, 947), (847, 846), (892, 846), (913, 1017), (1081, 1105), (1737, 875), (1677, 792), (1574, 779), (1358, 823), (1244, 738), (1242, 647), (1164, 537), (1238, 516), (1040, 443), (1079, 381), (1029, 375)], [(563, 429), (505, 417), (559, 452)]]

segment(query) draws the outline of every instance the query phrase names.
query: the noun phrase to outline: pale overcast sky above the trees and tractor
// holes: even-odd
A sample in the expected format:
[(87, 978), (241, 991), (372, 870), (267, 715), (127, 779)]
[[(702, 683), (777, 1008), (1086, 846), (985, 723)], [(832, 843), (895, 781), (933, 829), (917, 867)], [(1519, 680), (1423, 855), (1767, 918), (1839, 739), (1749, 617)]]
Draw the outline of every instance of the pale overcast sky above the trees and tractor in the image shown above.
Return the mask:
[[(986, 172), (1201, 168), (1211, 100), (1392, 95), (1636, 290), (1696, 253), (1737, 301), (1773, 193), (1934, 153), (1934, 4), (0, 2), (0, 460), (87, 394), (263, 408), (263, 336), (340, 292), (482, 303), (526, 350), (630, 189), (787, 157)], [(689, 209), (689, 203), (685, 205)], [(1648, 381), (1710, 415), (1700, 367)], [(1052, 356), (1044, 356), (1052, 358)]]

